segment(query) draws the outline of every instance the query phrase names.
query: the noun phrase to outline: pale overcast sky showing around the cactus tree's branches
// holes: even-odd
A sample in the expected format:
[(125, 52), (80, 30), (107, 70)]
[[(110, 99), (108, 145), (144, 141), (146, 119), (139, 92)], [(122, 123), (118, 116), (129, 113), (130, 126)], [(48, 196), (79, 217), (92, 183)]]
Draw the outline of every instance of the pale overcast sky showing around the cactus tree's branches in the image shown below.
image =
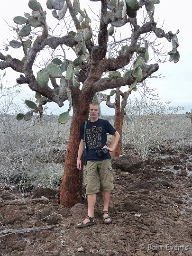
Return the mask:
[[(46, 0), (39, 0), (43, 7), (46, 7)], [(80, 0), (81, 6), (89, 3), (94, 10), (99, 9), (100, 2), (90, 2), (87, 0)], [(164, 23), (163, 29), (165, 32), (171, 30), (175, 33), (178, 29), (180, 30), (177, 35), (179, 40), (178, 51), (180, 53), (180, 60), (177, 64), (174, 62), (167, 62), (165, 64), (159, 64), (159, 70), (155, 75), (162, 74), (161, 79), (147, 79), (147, 86), (150, 88), (155, 88), (155, 93), (158, 93), (160, 101), (172, 101), (173, 106), (183, 106), (185, 111), (190, 111), (192, 109), (192, 32), (191, 32), (191, 10), (192, 1), (186, 0), (181, 4), (181, 1), (177, 0), (160, 0), (160, 4), (155, 5), (155, 21), (158, 20), (158, 27), (161, 27)], [(12, 40), (12, 33), (8, 31), (8, 25), (4, 19), (9, 24), (14, 24), (13, 18), (15, 16), (24, 16), (25, 12), (30, 13), (28, 8), (28, 0), (7, 0), (3, 1), (3, 6), (0, 8), (0, 52), (4, 55), (11, 54), (14, 56), (13, 52), (2, 51), (3, 42), (6, 42), (6, 38)], [(140, 10), (141, 11), (141, 10)], [(47, 10), (47, 12), (51, 12)], [(90, 13), (90, 11), (89, 11)], [(90, 17), (91, 18), (91, 17)], [(171, 43), (167, 43), (166, 39), (160, 40), (165, 44), (165, 51), (168, 52), (172, 50)], [(18, 51), (18, 49), (16, 50)], [(152, 62), (153, 63), (153, 62)], [(2, 73), (2, 71), (0, 71)], [(18, 73), (14, 71), (7, 71), (6, 80), (8, 80), (9, 85), (16, 83), (16, 78), (19, 76)], [(26, 85), (22, 86), (25, 90)], [(27, 99), (27, 94), (29, 90), (26, 90), (26, 94), (23, 94), (21, 98)], [(34, 93), (32, 93), (34, 95)], [(132, 93), (131, 97), (137, 97), (138, 92)], [(66, 104), (65, 104), (66, 105)], [(102, 113), (114, 114), (112, 109), (102, 106)], [(51, 106), (52, 110), (57, 111), (58, 107), (56, 104)], [(66, 106), (67, 109), (67, 106)], [(61, 112), (66, 111), (62, 107)], [(185, 112), (184, 111), (184, 112)], [(55, 112), (56, 114), (56, 112)]]

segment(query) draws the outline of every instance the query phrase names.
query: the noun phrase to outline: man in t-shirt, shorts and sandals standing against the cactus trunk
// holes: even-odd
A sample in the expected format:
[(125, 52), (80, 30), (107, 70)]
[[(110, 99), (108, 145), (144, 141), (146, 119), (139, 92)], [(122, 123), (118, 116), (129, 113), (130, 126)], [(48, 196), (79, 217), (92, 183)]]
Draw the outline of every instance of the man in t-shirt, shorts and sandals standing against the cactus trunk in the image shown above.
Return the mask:
[[(103, 223), (110, 224), (112, 219), (108, 212), (110, 203), (110, 191), (114, 189), (113, 186), (113, 170), (110, 164), (110, 152), (114, 151), (120, 135), (108, 120), (99, 119), (99, 104), (91, 102), (89, 113), (91, 120), (87, 122), (86, 126), (86, 193), (88, 202), (88, 216), (82, 220), (77, 227), (87, 227), (94, 223), (94, 207), (97, 200), (97, 193), (100, 192), (100, 185), (102, 188), (103, 197)], [(84, 124), (81, 125), (80, 145), (77, 157), (77, 168), (82, 169), (81, 156), (83, 151), (83, 132)], [(108, 147), (107, 133), (114, 136), (113, 144)], [(105, 148), (106, 154), (100, 150)], [(107, 149), (107, 150), (106, 150)], [(99, 151), (99, 152), (98, 152)]]

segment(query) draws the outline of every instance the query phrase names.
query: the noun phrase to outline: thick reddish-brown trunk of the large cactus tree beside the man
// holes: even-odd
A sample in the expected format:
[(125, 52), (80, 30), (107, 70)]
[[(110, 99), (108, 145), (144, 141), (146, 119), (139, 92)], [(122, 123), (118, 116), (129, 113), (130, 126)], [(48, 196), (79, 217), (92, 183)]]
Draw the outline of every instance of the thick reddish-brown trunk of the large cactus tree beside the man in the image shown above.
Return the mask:
[[(60, 203), (65, 207), (73, 206), (82, 201), (83, 169), (79, 171), (76, 166), (80, 143), (80, 126), (82, 121), (85, 121), (88, 118), (89, 103), (92, 101), (94, 96), (91, 86), (89, 86), (89, 89), (85, 86), (85, 89), (82, 91), (73, 88), (72, 93), (73, 117), (60, 192)], [(89, 96), (85, 97), (85, 95)]]

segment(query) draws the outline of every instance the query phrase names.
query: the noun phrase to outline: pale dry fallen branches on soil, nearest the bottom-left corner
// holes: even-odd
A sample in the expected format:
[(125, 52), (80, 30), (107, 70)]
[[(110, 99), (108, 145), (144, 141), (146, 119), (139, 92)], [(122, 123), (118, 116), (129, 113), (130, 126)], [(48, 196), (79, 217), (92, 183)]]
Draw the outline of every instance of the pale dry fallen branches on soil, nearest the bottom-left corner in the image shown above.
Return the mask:
[(11, 234), (20, 234), (20, 233), (26, 233), (26, 232), (33, 232), (33, 231), (41, 231), (44, 229), (51, 229), (54, 225), (49, 226), (43, 226), (43, 227), (37, 227), (37, 228), (27, 228), (27, 229), (0, 229), (0, 238), (4, 236), (8, 236)]

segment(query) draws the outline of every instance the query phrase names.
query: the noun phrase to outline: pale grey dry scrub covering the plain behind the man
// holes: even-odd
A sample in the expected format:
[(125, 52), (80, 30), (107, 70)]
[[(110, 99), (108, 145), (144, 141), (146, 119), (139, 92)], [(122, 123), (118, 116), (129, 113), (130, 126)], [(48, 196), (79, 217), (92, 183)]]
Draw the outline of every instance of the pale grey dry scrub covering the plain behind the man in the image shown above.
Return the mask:
[[(113, 117), (109, 119), (113, 124)], [(57, 117), (45, 116), (17, 121), (15, 116), (0, 115), (0, 187), (18, 187), (23, 194), (39, 183), (58, 188), (64, 171), (65, 150), (71, 121), (62, 125)], [(168, 141), (183, 147), (192, 137), (190, 119), (180, 114), (127, 115), (124, 119), (123, 150), (137, 152), (145, 161), (151, 151)]]

